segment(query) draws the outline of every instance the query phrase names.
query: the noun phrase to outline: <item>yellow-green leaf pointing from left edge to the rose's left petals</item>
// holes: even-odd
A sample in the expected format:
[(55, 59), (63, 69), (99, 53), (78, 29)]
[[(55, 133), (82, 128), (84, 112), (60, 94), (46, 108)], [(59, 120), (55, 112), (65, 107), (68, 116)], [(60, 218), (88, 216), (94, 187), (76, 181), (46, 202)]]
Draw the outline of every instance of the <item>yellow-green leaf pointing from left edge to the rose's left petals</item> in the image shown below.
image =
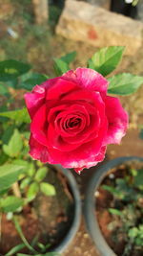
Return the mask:
[(26, 107), (6, 112), (0, 112), (0, 116), (8, 117), (19, 123), (31, 123), (31, 118)]

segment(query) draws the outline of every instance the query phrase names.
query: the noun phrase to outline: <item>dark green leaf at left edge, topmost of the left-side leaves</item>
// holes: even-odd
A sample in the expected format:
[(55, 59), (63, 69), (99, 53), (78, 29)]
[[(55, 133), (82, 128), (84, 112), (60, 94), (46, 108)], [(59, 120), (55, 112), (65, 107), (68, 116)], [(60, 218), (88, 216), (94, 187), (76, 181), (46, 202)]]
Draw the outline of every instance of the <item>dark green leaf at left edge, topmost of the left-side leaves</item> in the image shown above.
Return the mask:
[(0, 61), (0, 81), (11, 81), (27, 73), (31, 65), (22, 63), (17, 60), (8, 59)]

